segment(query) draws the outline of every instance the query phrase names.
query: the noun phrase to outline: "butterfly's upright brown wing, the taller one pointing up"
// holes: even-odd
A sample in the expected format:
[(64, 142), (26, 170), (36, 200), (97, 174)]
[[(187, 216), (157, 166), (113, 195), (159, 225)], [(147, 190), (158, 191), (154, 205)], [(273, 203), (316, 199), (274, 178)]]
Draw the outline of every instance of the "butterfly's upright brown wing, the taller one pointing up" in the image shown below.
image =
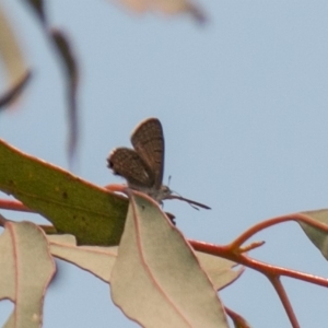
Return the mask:
[(164, 136), (160, 120), (148, 118), (142, 121), (132, 132), (131, 142), (153, 173), (154, 188), (159, 190), (164, 171)]

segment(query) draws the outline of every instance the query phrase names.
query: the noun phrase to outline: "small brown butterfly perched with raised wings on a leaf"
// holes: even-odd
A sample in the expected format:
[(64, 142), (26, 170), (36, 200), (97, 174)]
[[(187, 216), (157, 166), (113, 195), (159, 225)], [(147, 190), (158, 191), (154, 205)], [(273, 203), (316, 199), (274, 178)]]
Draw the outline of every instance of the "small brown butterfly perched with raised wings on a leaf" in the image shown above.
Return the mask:
[(163, 199), (180, 199), (191, 206), (210, 209), (197, 201), (172, 195), (172, 190), (162, 185), (164, 172), (164, 134), (157, 118), (143, 120), (132, 132), (131, 143), (134, 150), (117, 148), (108, 156), (108, 167), (114, 174), (125, 177), (131, 189), (142, 191), (159, 203)]

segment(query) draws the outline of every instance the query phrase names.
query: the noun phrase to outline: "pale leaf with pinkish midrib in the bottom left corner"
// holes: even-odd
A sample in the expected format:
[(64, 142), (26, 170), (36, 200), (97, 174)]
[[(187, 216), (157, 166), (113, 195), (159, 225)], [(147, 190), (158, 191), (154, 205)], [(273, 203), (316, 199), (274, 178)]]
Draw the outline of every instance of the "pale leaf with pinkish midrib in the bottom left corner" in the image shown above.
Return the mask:
[(8, 222), (0, 236), (0, 300), (15, 303), (5, 328), (42, 326), (45, 291), (56, 271), (43, 231)]

